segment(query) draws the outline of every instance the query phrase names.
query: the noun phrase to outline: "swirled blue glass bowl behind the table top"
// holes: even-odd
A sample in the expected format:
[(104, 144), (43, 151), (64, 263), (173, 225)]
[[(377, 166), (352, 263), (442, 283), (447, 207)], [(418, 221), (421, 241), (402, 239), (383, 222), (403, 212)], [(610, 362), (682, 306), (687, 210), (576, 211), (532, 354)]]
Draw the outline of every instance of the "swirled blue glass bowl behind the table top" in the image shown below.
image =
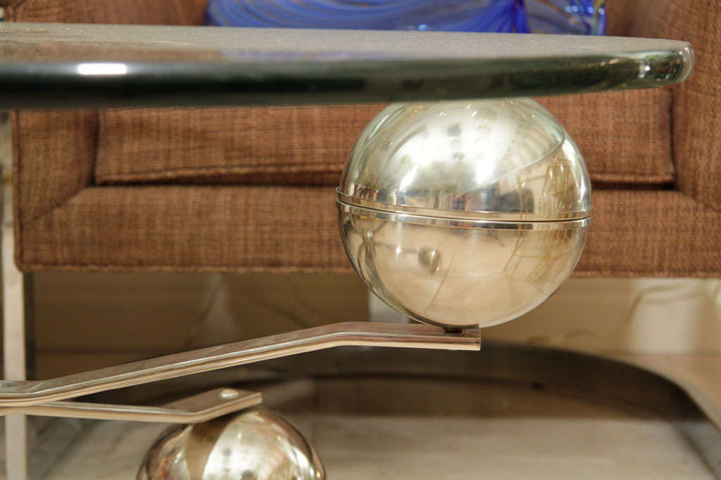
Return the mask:
[(603, 0), (210, 0), (223, 27), (603, 35)]

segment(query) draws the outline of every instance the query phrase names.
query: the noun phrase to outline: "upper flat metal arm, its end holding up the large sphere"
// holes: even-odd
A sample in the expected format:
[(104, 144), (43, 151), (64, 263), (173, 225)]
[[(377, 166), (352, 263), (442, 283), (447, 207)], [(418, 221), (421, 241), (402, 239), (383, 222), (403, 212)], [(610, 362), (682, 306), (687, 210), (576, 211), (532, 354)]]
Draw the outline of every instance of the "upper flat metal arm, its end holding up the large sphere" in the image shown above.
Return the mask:
[[(0, 407), (28, 407), (99, 391), (346, 345), (480, 350), (480, 344), (479, 330), (449, 333), (429, 325), (336, 323), (125, 363), (57, 379), (1, 381)], [(0, 415), (11, 412), (14, 412), (14, 408), (0, 409)]]

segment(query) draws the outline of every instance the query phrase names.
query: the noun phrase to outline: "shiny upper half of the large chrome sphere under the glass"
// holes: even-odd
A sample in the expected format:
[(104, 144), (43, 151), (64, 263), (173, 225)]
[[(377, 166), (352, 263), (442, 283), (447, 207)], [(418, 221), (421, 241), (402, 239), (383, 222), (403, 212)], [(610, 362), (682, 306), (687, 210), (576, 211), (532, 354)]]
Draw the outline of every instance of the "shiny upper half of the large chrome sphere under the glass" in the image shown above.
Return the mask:
[(355, 142), (338, 200), (485, 220), (579, 219), (591, 209), (578, 148), (531, 99), (389, 105)]

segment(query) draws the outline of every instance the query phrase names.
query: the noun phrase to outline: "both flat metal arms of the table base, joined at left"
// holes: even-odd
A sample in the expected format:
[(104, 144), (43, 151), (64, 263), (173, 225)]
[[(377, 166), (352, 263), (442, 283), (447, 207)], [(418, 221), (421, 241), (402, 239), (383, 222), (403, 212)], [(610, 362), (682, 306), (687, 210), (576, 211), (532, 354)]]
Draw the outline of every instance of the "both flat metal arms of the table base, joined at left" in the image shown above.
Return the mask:
[[(260, 403), (260, 394), (242, 392), (240, 399), (220, 402), (211, 392), (190, 397), (164, 408), (102, 405), (60, 400), (120, 389), (125, 386), (173, 379), (193, 373), (255, 363), (340, 346), (480, 350), (480, 330), (446, 332), (418, 324), (345, 322), (281, 333), (270, 337), (202, 348), (151, 360), (57, 379), (0, 381), (0, 416), (14, 413), (56, 417), (102, 418), (153, 422), (198, 422), (244, 408), (243, 402)], [(207, 397), (203, 397), (203, 396)], [(213, 397), (213, 395), (216, 395)], [(242, 401), (241, 401), (242, 400)], [(210, 406), (208, 406), (209, 404)], [(219, 402), (219, 403), (218, 403)], [(249, 406), (249, 404), (247, 406)], [(146, 420), (148, 419), (148, 420)], [(152, 419), (152, 420), (150, 420)], [(163, 420), (164, 419), (164, 420)], [(182, 420), (181, 420), (182, 419)], [(190, 419), (190, 420), (189, 420)]]

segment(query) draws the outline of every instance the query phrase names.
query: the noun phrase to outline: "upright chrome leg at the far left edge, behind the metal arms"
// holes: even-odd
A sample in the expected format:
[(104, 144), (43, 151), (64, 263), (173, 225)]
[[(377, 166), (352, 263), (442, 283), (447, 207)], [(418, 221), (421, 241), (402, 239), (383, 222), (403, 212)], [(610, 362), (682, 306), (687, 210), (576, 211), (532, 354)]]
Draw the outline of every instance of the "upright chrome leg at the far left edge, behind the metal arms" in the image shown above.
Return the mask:
[[(4, 379), (25, 380), (25, 290), (14, 263), (12, 212), (12, 140), (9, 115), (0, 112), (0, 166), (2, 168), (2, 286)], [(27, 479), (27, 421), (25, 415), (5, 419), (5, 468), (8, 480)]]

